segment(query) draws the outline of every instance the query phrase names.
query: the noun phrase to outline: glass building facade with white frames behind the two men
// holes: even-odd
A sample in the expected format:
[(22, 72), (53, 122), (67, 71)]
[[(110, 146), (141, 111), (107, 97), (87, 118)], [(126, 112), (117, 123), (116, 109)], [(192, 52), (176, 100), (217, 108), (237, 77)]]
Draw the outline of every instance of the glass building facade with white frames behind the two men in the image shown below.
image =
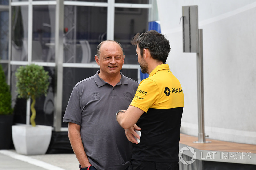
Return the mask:
[[(122, 73), (140, 81), (136, 47), (130, 41), (148, 30), (152, 0), (0, 0), (0, 62), (12, 93), (14, 123), (29, 124), (30, 100), (18, 99), (15, 72), (35, 63), (49, 72), (47, 96), (36, 100), (36, 123), (67, 131), (62, 122), (77, 82), (99, 70), (94, 60), (101, 41), (122, 44)], [(156, 3), (156, 2), (155, 2)]]

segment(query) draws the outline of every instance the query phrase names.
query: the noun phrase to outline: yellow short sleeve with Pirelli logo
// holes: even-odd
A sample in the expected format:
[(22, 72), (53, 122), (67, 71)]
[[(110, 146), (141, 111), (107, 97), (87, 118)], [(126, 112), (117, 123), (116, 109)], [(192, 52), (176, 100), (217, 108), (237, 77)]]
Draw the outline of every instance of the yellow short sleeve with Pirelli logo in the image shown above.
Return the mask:
[(140, 82), (136, 94), (131, 102), (135, 106), (147, 112), (149, 107), (159, 99), (159, 88), (151, 79), (144, 79)]

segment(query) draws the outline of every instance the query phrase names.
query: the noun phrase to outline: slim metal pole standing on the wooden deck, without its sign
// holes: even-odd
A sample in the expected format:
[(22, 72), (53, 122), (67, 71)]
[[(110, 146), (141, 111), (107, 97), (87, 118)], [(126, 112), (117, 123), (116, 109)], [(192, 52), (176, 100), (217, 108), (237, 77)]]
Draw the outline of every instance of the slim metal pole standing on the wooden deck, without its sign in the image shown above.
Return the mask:
[(197, 53), (197, 100), (198, 100), (198, 142), (205, 143), (204, 131), (204, 75), (203, 75), (203, 30), (199, 29), (199, 53)]

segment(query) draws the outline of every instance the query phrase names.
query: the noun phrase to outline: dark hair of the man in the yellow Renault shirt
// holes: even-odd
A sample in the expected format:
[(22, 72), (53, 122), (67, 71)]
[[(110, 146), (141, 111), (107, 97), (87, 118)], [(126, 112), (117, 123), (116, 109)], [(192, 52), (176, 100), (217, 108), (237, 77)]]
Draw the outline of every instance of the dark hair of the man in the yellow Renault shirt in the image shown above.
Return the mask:
[(145, 33), (137, 33), (131, 41), (132, 45), (138, 45), (140, 48), (140, 54), (143, 55), (143, 49), (147, 48), (150, 51), (151, 56), (163, 63), (171, 51), (169, 41), (164, 35), (158, 33), (155, 30), (150, 30)]

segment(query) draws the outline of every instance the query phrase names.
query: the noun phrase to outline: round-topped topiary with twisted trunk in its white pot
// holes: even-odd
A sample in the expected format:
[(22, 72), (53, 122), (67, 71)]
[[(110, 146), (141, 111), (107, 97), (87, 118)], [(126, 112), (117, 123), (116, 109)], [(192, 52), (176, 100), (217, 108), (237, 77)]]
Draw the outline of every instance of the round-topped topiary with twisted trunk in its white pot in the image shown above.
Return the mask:
[(24, 155), (45, 154), (51, 140), (52, 127), (36, 125), (36, 98), (47, 94), (49, 75), (42, 66), (20, 66), (16, 73), (18, 98), (32, 99), (30, 125), (13, 125), (12, 139), (17, 153)]

